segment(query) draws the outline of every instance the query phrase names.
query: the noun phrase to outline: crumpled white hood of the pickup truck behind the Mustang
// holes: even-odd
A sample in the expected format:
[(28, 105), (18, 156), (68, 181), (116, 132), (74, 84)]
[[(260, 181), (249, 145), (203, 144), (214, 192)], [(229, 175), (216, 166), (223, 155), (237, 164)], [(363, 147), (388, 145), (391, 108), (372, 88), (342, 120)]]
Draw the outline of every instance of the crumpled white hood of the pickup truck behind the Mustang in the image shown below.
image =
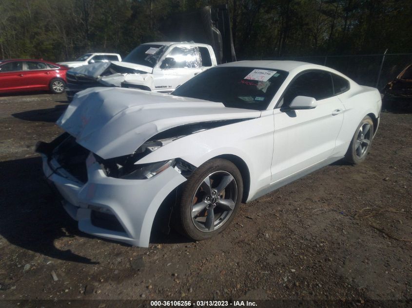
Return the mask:
[(140, 65), (140, 64), (111, 61), (111, 62), (98, 62), (98, 63), (92, 63), (88, 65), (75, 67), (71, 69), (69, 72), (74, 72), (76, 74), (80, 74), (80, 75), (84, 75), (88, 77), (98, 78), (111, 65), (115, 66), (115, 69), (117, 67), (116, 71), (119, 71), (119, 72), (121, 72), (121, 68), (136, 70), (136, 72), (142, 71), (142, 72), (151, 73), (153, 71), (151, 67)]

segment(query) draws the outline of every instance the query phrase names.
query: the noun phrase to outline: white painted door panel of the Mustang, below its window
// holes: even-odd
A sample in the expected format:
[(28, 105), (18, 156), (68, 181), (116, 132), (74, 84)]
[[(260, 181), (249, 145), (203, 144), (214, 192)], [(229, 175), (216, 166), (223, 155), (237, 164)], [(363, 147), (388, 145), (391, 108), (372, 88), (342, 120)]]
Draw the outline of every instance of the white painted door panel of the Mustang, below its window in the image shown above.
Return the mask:
[[(338, 109), (341, 113), (332, 116), (333, 110)], [(343, 123), (343, 104), (334, 96), (319, 101), (314, 109), (294, 110), (293, 115), (275, 109), (274, 123), (272, 179), (275, 182), (332, 154)]]

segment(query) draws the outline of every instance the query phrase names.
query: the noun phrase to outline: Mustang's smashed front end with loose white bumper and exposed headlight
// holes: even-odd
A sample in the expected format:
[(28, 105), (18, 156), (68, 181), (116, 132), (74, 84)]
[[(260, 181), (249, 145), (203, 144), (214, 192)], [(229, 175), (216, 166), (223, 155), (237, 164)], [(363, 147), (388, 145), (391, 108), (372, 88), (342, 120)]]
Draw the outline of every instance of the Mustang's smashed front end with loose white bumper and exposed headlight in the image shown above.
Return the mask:
[(43, 172), (80, 231), (148, 247), (153, 228), (170, 231), (181, 185), (196, 166), (180, 158), (138, 163), (162, 146), (199, 131), (238, 120), (173, 127), (153, 136), (132, 154), (103, 159), (65, 132), (51, 143), (39, 142)]

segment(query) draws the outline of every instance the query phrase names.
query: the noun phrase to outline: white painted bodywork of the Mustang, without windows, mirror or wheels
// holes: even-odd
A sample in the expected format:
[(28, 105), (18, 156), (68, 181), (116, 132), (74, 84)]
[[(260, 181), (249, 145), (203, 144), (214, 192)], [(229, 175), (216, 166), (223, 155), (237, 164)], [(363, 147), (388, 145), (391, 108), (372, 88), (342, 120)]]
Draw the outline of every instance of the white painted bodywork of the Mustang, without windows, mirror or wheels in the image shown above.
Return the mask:
[[(135, 164), (181, 159), (199, 167), (216, 157), (233, 159), (239, 168), (246, 166), (246, 202), (342, 158), (366, 115), (375, 121), (376, 132), (379, 92), (359, 86), (339, 72), (294, 61), (246, 61), (223, 66), (278, 69), (289, 75), (263, 111), (147, 91), (94, 88), (79, 92), (57, 124), (91, 153), (112, 159), (135, 153), (150, 138), (174, 127), (222, 121), (221, 126), (169, 140)], [(307, 70), (333, 72), (347, 79), (350, 89), (317, 101), (313, 109), (285, 112), (275, 108), (294, 77)], [(148, 180), (109, 177), (90, 154), (86, 161), (88, 181), (82, 183), (64, 169), (53, 173), (52, 168), (59, 168), (54, 163), (44, 157), (44, 173), (67, 201), (65, 209), (79, 221), (81, 231), (143, 247), (149, 245), (159, 206), (187, 180), (176, 167), (168, 167)], [(112, 213), (125, 232), (95, 227), (90, 213), (96, 208)]]

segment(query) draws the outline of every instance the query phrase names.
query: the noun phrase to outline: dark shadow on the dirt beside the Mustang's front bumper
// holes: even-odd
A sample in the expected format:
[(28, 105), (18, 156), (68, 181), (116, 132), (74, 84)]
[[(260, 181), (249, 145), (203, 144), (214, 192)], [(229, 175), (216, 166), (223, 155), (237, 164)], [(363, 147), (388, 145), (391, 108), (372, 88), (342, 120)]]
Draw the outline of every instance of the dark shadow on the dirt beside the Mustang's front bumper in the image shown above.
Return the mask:
[(13, 245), (52, 258), (98, 264), (89, 258), (60, 250), (54, 241), (62, 237), (91, 237), (78, 231), (42, 181), (41, 159), (33, 157), (0, 162), (0, 235)]

